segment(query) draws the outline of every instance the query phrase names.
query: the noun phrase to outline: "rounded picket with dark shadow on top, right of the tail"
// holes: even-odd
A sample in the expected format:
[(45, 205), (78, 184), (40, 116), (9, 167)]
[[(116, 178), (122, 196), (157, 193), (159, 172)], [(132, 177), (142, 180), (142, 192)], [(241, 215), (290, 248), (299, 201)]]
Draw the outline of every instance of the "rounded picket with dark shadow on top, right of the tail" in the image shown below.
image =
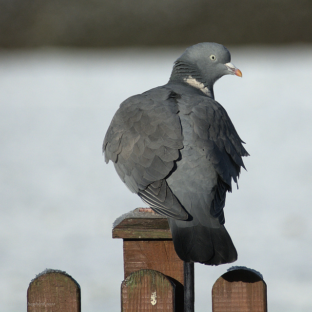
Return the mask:
[(220, 276), (212, 289), (213, 312), (267, 312), (267, 286), (260, 274), (235, 269)]

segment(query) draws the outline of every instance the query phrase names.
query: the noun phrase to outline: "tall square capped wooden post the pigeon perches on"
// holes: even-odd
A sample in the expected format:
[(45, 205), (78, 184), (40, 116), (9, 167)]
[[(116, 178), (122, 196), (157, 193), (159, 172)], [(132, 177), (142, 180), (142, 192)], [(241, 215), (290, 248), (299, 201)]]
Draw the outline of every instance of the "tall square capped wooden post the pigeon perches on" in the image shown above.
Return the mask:
[(176, 285), (175, 311), (194, 312), (194, 264), (185, 266), (176, 255), (166, 217), (137, 208), (115, 221), (113, 238), (123, 239), (125, 280), (142, 269), (158, 271)]

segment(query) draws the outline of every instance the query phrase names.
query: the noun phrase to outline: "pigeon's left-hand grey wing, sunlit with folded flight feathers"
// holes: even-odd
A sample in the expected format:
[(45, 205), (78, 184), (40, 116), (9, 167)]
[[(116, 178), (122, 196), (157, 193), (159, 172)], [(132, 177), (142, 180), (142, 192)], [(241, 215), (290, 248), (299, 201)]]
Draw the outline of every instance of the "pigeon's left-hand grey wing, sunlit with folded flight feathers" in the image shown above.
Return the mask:
[(104, 138), (103, 153), (106, 162), (114, 162), (127, 187), (156, 212), (187, 219), (165, 181), (179, 157), (182, 141), (171, 90), (159, 87), (120, 104)]

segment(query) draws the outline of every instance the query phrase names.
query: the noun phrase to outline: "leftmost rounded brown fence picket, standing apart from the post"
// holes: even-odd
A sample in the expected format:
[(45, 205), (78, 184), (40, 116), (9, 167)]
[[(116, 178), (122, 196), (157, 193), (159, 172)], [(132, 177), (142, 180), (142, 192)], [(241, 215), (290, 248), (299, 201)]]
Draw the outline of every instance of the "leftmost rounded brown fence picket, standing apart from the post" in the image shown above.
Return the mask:
[(80, 312), (80, 286), (67, 273), (47, 269), (27, 290), (27, 312)]

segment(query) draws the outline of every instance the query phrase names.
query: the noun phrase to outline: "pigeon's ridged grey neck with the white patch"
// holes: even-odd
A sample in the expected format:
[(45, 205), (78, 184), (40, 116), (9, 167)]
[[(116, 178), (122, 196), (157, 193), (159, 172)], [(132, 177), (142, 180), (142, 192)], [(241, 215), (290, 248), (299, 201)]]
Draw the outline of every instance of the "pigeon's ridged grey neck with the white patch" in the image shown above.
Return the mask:
[(204, 95), (214, 98), (213, 84), (210, 86), (200, 75), (198, 70), (191, 65), (176, 61), (169, 82), (187, 84), (200, 90)]

